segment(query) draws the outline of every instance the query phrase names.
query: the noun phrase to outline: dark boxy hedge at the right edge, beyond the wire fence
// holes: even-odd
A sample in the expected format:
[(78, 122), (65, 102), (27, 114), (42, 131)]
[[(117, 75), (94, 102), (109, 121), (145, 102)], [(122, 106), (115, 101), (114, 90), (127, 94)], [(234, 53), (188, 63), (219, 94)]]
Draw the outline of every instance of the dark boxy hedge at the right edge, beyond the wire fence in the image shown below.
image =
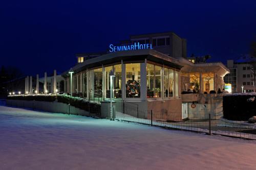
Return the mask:
[(223, 118), (229, 120), (247, 121), (256, 115), (256, 94), (232, 94), (223, 96)]

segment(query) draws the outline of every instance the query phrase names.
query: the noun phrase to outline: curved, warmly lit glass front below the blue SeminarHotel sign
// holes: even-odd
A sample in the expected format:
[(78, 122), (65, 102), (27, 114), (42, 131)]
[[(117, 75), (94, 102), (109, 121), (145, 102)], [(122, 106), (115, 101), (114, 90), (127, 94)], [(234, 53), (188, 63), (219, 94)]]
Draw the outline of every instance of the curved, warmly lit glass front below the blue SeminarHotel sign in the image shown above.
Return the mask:
[[(143, 69), (146, 72), (142, 74), (145, 77), (141, 80), (141, 69), (144, 65), (145, 63), (116, 64), (79, 72), (73, 77), (73, 92), (79, 92), (81, 97), (89, 98), (89, 100), (109, 100), (109, 74), (113, 70), (115, 75), (113, 99), (126, 98), (132, 101), (132, 98), (145, 100), (146, 98), (179, 97), (179, 71), (146, 63), (146, 69)], [(122, 68), (125, 69), (125, 72), (122, 72)], [(142, 88), (141, 81), (145, 83)], [(145, 96), (141, 96), (141, 90)]]

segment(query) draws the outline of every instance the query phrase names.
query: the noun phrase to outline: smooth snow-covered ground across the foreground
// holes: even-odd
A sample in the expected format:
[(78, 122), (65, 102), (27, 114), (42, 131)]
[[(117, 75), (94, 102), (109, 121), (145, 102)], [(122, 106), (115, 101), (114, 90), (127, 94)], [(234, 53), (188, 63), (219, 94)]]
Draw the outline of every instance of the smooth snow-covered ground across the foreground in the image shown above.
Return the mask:
[(0, 106), (0, 169), (255, 169), (256, 142)]

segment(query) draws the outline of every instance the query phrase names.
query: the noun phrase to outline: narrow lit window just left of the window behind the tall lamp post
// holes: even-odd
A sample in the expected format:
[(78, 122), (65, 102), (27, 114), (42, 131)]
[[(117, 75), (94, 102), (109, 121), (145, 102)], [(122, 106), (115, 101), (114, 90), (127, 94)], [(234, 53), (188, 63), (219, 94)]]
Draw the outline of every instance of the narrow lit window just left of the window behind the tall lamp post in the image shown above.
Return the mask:
[(94, 72), (94, 96), (102, 96), (102, 68), (96, 68)]

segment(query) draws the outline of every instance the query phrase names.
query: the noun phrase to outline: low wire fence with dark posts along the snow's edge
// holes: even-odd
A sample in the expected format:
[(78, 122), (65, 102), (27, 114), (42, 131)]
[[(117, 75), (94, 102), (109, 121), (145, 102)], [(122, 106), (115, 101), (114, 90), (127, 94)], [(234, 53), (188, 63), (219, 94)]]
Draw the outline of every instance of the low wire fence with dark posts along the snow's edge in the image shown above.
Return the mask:
[[(115, 119), (122, 122), (139, 123), (167, 129), (186, 130), (207, 133), (210, 135), (216, 134), (256, 140), (256, 125), (231, 122), (223, 118), (212, 119), (210, 114), (207, 119), (182, 120), (181, 115), (170, 113), (168, 111), (138, 111), (137, 115), (129, 115), (126, 113), (127, 112), (123, 113), (116, 111)], [(205, 114), (198, 114), (197, 117), (205, 118)]]

